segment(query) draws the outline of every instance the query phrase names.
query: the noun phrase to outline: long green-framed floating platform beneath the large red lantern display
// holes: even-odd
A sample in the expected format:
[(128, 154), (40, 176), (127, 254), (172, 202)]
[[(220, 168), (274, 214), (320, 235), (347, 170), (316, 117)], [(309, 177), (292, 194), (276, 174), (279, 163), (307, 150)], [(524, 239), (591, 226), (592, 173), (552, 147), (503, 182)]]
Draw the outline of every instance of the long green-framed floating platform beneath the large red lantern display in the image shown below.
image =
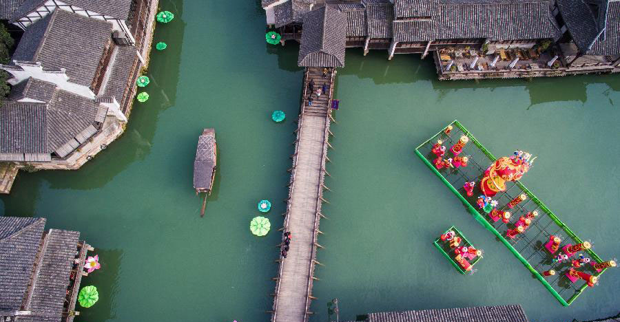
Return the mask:
[[(570, 305), (570, 303), (575, 301), (575, 299), (588, 288), (588, 285), (586, 281), (583, 280), (571, 283), (568, 277), (564, 275), (564, 272), (566, 272), (570, 264), (553, 261), (553, 256), (544, 249), (544, 244), (548, 241), (550, 235), (559, 235), (563, 245), (581, 244), (583, 240), (577, 237), (564, 222), (561, 222), (543, 202), (519, 181), (506, 182), (506, 191), (495, 195), (494, 199), (499, 202), (498, 209), (504, 210), (506, 208), (505, 205), (508, 204), (510, 200), (513, 200), (521, 193), (525, 193), (528, 196), (528, 200), (510, 209), (510, 212), (513, 213), (513, 218), (525, 216), (530, 211), (538, 211), (539, 216), (530, 224), (525, 233), (519, 234), (515, 239), (506, 239), (506, 237), (499, 232), (499, 230), (502, 230), (502, 232), (506, 230), (506, 224), (501, 220), (499, 222), (493, 222), (482, 209), (477, 210), (475, 202), (479, 193), (474, 193), (472, 197), (468, 197), (462, 188), (465, 182), (475, 181), (479, 183), (484, 175), (484, 171), (492, 162), (495, 162), (497, 158), (485, 149), (457, 120), (452, 122), (451, 125), (453, 129), (449, 134), (444, 132), (445, 128), (442, 129), (439, 133), (435, 134), (435, 136), (415, 148), (415, 154), (417, 154), (428, 168), (430, 168), (431, 171), (459, 197), (476, 221), (482, 224), (487, 230), (490, 230), (491, 233), (502, 241), (506, 248), (532, 272), (562, 305)], [(464, 135), (469, 138), (469, 142), (464, 147), (462, 153), (462, 155), (471, 155), (468, 166), (456, 169), (442, 169), (442, 172), (438, 171), (432, 163), (433, 159), (435, 159), (435, 155), (431, 152), (433, 144), (435, 144), (437, 140), (443, 140), (444, 146), (449, 148), (453, 144), (456, 144), (459, 138)], [(447, 151), (446, 155), (450, 153), (451, 152)], [(515, 219), (513, 219), (513, 221), (515, 221)], [(587, 253), (593, 261), (603, 261), (592, 249), (580, 253)], [(541, 275), (541, 272), (546, 270), (556, 270), (559, 274), (545, 278)], [(606, 269), (597, 272), (592, 266), (585, 265), (582, 266), (580, 270), (588, 272), (588, 274), (599, 276), (603, 274)]]

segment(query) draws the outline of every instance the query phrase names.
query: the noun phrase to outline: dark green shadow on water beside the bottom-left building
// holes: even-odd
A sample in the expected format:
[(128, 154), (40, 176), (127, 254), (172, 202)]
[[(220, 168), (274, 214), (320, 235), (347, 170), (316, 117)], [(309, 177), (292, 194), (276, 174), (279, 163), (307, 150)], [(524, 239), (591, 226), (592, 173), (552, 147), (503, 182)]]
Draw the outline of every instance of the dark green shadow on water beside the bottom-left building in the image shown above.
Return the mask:
[(80, 312), (80, 315), (76, 317), (75, 321), (103, 322), (114, 319), (116, 314), (112, 308), (115, 306), (114, 297), (118, 290), (123, 250), (95, 248), (94, 252), (90, 252), (88, 255), (99, 255), (101, 268), (83, 277), (80, 288), (94, 285), (99, 292), (99, 301), (90, 308), (82, 308), (77, 303), (76, 310)]

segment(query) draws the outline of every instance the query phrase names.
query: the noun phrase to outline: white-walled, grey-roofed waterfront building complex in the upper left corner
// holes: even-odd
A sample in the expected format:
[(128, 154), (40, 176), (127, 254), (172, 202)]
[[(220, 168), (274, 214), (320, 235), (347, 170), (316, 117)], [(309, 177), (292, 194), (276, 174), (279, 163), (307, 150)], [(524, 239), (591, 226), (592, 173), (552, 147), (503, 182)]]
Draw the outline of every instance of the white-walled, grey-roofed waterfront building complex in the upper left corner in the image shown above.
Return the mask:
[[(79, 169), (123, 133), (147, 66), (157, 0), (10, 0), (23, 28), (0, 109), (0, 162)], [(14, 173), (14, 172), (10, 172)], [(8, 193), (12, 174), (0, 182)]]

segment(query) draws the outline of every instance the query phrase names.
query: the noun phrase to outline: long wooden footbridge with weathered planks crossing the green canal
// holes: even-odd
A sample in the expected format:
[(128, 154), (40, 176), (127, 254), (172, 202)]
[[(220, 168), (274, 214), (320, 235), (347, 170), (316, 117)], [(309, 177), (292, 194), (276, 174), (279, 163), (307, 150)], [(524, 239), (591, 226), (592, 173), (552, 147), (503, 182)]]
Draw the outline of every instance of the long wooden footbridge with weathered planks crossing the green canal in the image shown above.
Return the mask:
[[(308, 320), (316, 249), (321, 233), (319, 220), (321, 214), (325, 175), (325, 162), (329, 144), (331, 120), (331, 100), (333, 96), (335, 70), (309, 67), (304, 73), (302, 105), (296, 129), (295, 153), (291, 155), (293, 167), (289, 182), (287, 211), (282, 230), (291, 232), (291, 245), (287, 257), (280, 256), (276, 292), (273, 293), (272, 322), (306, 322)], [(314, 93), (309, 89), (313, 80)], [(316, 89), (327, 85), (327, 91), (320, 96)], [(309, 97), (312, 98), (309, 105)]]

